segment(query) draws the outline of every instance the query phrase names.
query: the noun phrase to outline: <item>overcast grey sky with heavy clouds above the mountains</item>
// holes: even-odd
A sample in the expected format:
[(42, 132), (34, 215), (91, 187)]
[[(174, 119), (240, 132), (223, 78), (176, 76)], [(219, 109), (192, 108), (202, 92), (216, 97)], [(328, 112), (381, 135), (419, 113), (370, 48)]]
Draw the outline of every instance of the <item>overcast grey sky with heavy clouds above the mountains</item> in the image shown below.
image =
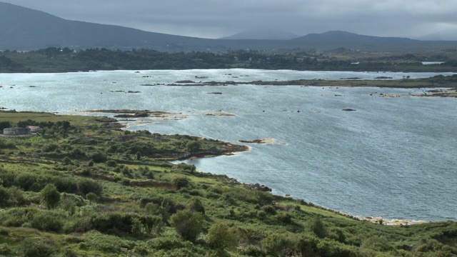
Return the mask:
[(0, 0), (64, 19), (219, 38), (248, 29), (457, 37), (456, 0)]

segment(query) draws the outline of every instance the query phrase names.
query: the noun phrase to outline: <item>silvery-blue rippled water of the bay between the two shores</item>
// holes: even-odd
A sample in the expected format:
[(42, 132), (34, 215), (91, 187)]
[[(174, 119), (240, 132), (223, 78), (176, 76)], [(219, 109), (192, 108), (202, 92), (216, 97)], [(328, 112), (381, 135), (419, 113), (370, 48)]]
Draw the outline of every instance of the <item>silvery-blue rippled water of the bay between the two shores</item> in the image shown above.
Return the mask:
[[(434, 75), (243, 69), (0, 74), (0, 107), (70, 114), (93, 109), (181, 113), (186, 119), (154, 120), (131, 129), (232, 143), (273, 138), (273, 143), (250, 144), (249, 152), (188, 162), (353, 215), (457, 220), (457, 99), (411, 96), (424, 89), (141, 86)], [(214, 92), (221, 94), (208, 94)], [(356, 111), (342, 111), (346, 108)], [(235, 116), (199, 115), (219, 111)]]

